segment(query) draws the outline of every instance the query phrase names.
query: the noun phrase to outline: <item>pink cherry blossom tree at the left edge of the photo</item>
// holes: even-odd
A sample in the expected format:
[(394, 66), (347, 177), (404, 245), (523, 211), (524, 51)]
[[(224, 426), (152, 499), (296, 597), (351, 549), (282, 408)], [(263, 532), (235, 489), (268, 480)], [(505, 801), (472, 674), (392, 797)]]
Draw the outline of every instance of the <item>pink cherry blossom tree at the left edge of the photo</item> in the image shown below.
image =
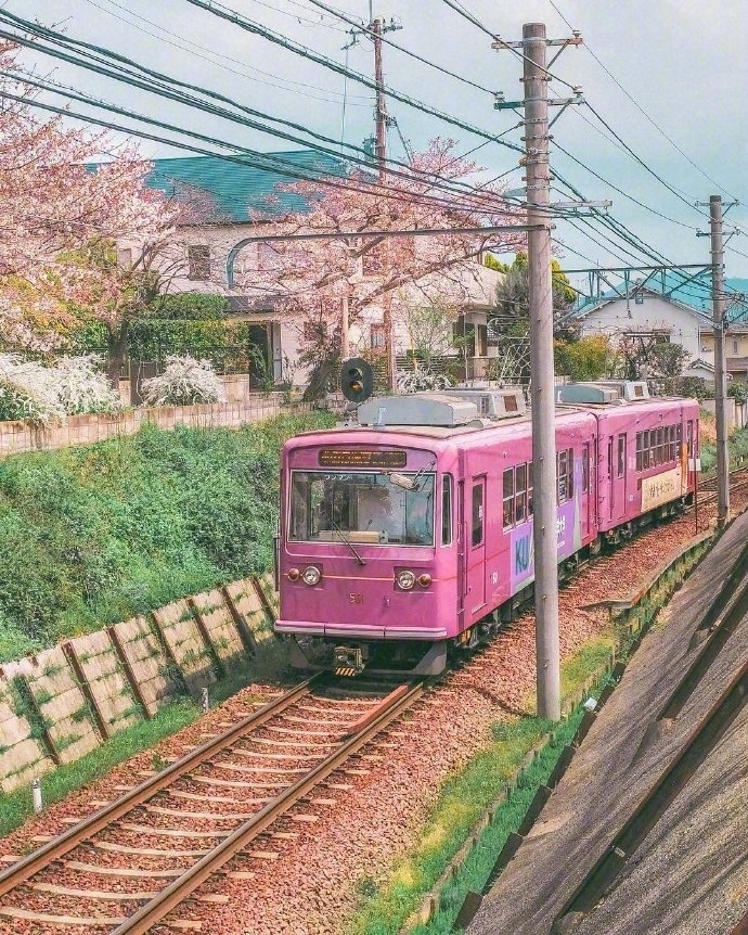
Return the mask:
[[(144, 185), (150, 166), (134, 148), (92, 170), (108, 146), (102, 135), (37, 119), (11, 46), (0, 46), (0, 338), (49, 349), (81, 317), (114, 334), (137, 287), (152, 279), (178, 207)], [(121, 244), (130, 249), (125, 265), (116, 261)]]

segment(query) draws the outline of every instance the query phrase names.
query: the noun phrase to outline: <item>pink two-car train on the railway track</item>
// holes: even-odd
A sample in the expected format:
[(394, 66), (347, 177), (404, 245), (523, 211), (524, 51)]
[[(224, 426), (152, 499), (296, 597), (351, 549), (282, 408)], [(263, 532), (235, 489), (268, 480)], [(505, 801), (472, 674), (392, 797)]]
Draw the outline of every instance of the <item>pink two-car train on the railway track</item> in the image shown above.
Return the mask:
[[(556, 389), (559, 563), (693, 502), (695, 400)], [(375, 398), (358, 417), (283, 449), (275, 629), (300, 668), (434, 674), (531, 595), (530, 418), (514, 388)]]

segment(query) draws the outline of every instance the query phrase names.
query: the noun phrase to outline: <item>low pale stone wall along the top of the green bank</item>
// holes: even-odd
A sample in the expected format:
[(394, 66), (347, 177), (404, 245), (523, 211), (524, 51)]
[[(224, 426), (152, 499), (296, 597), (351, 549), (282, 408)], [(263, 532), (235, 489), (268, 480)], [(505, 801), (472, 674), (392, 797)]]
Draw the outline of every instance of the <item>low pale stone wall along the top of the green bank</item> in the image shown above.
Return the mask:
[(69, 445), (92, 445), (120, 435), (134, 435), (145, 423), (165, 430), (178, 425), (238, 428), (298, 411), (298, 405), (292, 410), (282, 405), (282, 399), (281, 393), (270, 393), (211, 406), (157, 406), (131, 409), (114, 415), (69, 415), (64, 422), (44, 428), (31, 428), (25, 422), (0, 422), (0, 458), (24, 451), (50, 451)]

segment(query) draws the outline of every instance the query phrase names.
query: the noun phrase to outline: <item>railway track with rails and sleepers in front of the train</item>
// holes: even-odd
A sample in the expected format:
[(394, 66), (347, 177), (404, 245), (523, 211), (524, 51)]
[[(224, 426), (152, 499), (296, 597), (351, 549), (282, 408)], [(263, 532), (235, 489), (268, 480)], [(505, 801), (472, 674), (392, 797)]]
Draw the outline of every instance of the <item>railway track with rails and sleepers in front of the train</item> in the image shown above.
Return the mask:
[(279, 819), (313, 821), (309, 807), (334, 805), (310, 793), (426, 688), (421, 680), (343, 690), (315, 676), (271, 700), (1, 871), (3, 933), (198, 930), (167, 917), (189, 899), (220, 900), (196, 891), (237, 854), (262, 859), (272, 837), (295, 836), (273, 831)]

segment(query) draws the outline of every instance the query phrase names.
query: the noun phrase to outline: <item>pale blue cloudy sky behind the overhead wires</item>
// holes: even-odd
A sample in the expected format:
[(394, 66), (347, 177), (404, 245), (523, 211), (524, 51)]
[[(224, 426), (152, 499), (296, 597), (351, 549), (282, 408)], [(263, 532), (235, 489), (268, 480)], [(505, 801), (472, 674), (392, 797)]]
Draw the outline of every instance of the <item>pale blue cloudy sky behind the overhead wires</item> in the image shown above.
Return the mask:
[[(351, 41), (350, 25), (336, 15), (365, 24), (370, 0), (324, 4), (335, 12), (324, 12), (313, 0), (224, 0), (216, 5), (371, 78), (371, 41), (359, 36), (344, 49)], [(373, 132), (371, 89), (189, 0), (5, 0), (0, 16), (3, 12), (37, 20), (68, 38), (105, 47), (335, 141), (360, 145)], [(725, 209), (739, 202), (725, 217), (726, 276), (748, 277), (748, 236), (741, 232), (748, 232), (745, 0), (375, 0), (371, 13), (401, 27), (386, 39), (433, 63), (385, 43), (387, 87), (500, 138), (486, 140), (390, 99), (388, 111), (409, 145), (417, 151), (436, 137), (454, 139), (456, 152), (472, 152), (469, 157), (486, 169), (482, 178), (503, 175), (510, 190), (523, 185), (520, 154), (501, 141), (521, 146), (523, 132), (514, 112), (493, 107), (493, 94), (521, 98), (521, 61), (512, 51), (492, 49), (491, 36), (518, 40), (525, 23), (544, 23), (550, 39), (579, 30), (583, 44), (565, 49), (551, 68), (551, 97), (566, 98), (570, 86), (580, 86), (585, 101), (567, 107), (553, 126), (552, 170), (585, 200), (611, 201), (608, 213), (622, 226), (627, 242), (585, 217), (589, 210), (582, 208), (575, 220), (556, 221), (562, 266), (706, 265), (709, 238), (697, 232), (709, 230), (708, 208), (696, 203), (721, 195)], [(550, 48), (549, 57), (556, 51)], [(300, 149), (36, 51), (26, 51), (23, 59), (38, 75), (217, 140), (262, 152)], [(62, 101), (47, 93), (41, 100)], [(552, 117), (559, 111), (552, 108)], [(141, 142), (141, 152), (146, 158), (191, 155), (153, 141)], [(388, 154), (405, 158), (394, 127)], [(556, 187), (552, 200), (568, 202), (563, 183)], [(585, 279), (572, 276), (580, 284)]]

